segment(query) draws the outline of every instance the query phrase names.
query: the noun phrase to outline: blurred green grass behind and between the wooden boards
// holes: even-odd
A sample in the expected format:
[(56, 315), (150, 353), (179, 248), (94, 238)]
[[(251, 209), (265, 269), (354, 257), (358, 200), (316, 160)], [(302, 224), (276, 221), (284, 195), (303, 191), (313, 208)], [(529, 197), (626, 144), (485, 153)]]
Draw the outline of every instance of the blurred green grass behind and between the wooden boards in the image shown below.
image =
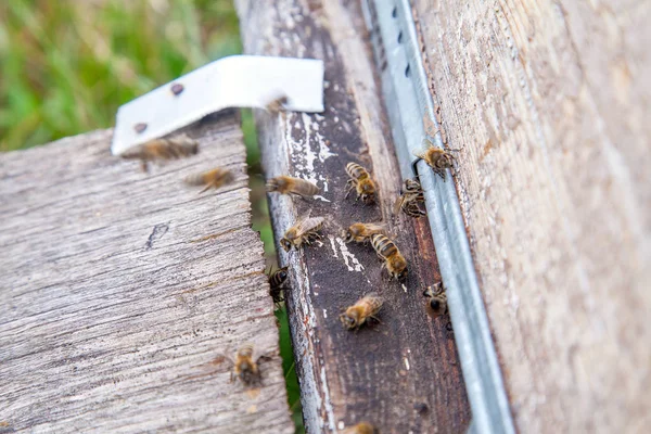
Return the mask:
[[(113, 126), (120, 104), (242, 51), (230, 0), (0, 0), (0, 151)], [(253, 227), (276, 260), (251, 111), (242, 113)], [(304, 432), (284, 308), (281, 354)]]

